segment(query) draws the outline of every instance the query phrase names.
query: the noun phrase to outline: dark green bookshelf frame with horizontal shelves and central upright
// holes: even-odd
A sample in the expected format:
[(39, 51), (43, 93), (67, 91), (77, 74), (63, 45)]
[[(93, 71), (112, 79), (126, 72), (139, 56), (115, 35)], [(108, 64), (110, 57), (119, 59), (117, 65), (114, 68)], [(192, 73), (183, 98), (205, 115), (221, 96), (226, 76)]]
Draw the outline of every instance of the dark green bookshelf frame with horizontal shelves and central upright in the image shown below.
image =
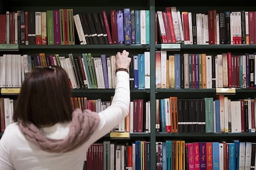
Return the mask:
[[(95, 0), (95, 1), (49, 1), (46, 0), (43, 4), (27, 0), (27, 1), (19, 1), (19, 0), (9, 0), (2, 1), (0, 4), (0, 13), (4, 14), (6, 10), (15, 11), (15, 10), (49, 10), (49, 9), (61, 9), (64, 7), (69, 7), (74, 9), (74, 14), (83, 14), (85, 10), (89, 11), (101, 11), (103, 9), (109, 10), (111, 9), (122, 9), (124, 7), (130, 7), (132, 9), (149, 9), (150, 10), (150, 44), (147, 45), (120, 45), (120, 44), (112, 44), (112, 45), (46, 45), (46, 46), (38, 46), (38, 45), (19, 45), (19, 50), (12, 51), (8, 48), (0, 49), (0, 54), (12, 53), (16, 52), (18, 54), (28, 53), (35, 54), (37, 52), (46, 52), (46, 54), (68, 54), (72, 52), (73, 54), (79, 54), (85, 51), (90, 51), (95, 55), (101, 54), (101, 51), (105, 54), (114, 54), (117, 51), (122, 51), (123, 49), (127, 49), (131, 55), (138, 54), (140, 52), (149, 51), (151, 55), (151, 59), (155, 59), (155, 51), (160, 51), (162, 45), (160, 43), (155, 44), (155, 11), (156, 10), (165, 10), (167, 6), (176, 6), (180, 11), (182, 10), (190, 10), (192, 12), (207, 12), (209, 9), (216, 10), (255, 10), (255, 5), (252, 4), (253, 1), (246, 1), (244, 5), (240, 6), (241, 2), (238, 0), (232, 1), (232, 3), (228, 0), (221, 1), (155, 1), (155, 0), (141, 0), (141, 1), (103, 1), (103, 0)], [(231, 4), (230, 4), (231, 3)], [(45, 5), (46, 4), (46, 5)], [(209, 54), (220, 54), (222, 52), (233, 52), (234, 54), (239, 53), (254, 53), (256, 49), (256, 44), (241, 44), (241, 45), (231, 45), (231, 44), (181, 44), (178, 49), (168, 49), (169, 54), (184, 54), (184, 53), (209, 53)], [(166, 50), (166, 49), (163, 49)], [(147, 140), (151, 142), (150, 152), (151, 159), (150, 165), (155, 167), (156, 165), (156, 147), (155, 143), (164, 141), (164, 140), (186, 140), (186, 142), (196, 142), (196, 141), (215, 141), (219, 142), (222, 140), (246, 140), (255, 142), (256, 135), (255, 133), (165, 133), (165, 132), (156, 132), (155, 124), (156, 120), (154, 119), (156, 116), (155, 110), (155, 99), (163, 99), (165, 97), (169, 97), (171, 95), (177, 96), (179, 99), (203, 99), (204, 97), (215, 97), (216, 89), (156, 89), (155, 86), (155, 60), (150, 60), (150, 89), (131, 89), (131, 99), (145, 99), (151, 102), (151, 133), (133, 133), (130, 134), (130, 140), (135, 141), (137, 139)], [(102, 99), (109, 100), (110, 96), (114, 94), (114, 89), (73, 89), (72, 95), (74, 97), (83, 97), (87, 95), (88, 98), (95, 98), (95, 94), (97, 97), (101, 97)], [(256, 89), (236, 89), (236, 94), (227, 95), (230, 99), (244, 99), (250, 97), (251, 99), (255, 99)], [(1, 96), (6, 97), (14, 97), (18, 94), (1, 94)], [(101, 140), (109, 140), (109, 134)], [(100, 140), (100, 141), (101, 141)], [(112, 139), (111, 139), (112, 140)], [(116, 140), (113, 140), (114, 142)], [(123, 140), (118, 140), (118, 142), (122, 143)], [(125, 142), (124, 142), (125, 143)]]

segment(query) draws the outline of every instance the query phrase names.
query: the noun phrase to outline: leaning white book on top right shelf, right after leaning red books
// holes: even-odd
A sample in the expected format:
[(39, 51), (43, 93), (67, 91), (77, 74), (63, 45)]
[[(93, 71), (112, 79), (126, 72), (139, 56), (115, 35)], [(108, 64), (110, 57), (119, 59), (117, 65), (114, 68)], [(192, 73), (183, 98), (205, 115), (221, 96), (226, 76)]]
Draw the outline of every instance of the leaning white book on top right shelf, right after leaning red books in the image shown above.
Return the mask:
[(176, 43), (181, 43), (181, 29), (179, 28), (179, 18), (176, 7), (171, 7), (171, 17), (173, 18), (173, 28), (176, 38)]

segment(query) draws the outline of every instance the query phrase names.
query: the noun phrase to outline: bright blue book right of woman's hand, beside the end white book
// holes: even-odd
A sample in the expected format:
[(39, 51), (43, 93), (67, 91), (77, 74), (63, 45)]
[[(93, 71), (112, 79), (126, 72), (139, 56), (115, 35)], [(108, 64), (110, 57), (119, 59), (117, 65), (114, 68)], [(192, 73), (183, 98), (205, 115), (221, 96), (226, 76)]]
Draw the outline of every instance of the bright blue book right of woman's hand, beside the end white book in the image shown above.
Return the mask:
[(145, 89), (145, 54), (138, 54), (139, 87)]

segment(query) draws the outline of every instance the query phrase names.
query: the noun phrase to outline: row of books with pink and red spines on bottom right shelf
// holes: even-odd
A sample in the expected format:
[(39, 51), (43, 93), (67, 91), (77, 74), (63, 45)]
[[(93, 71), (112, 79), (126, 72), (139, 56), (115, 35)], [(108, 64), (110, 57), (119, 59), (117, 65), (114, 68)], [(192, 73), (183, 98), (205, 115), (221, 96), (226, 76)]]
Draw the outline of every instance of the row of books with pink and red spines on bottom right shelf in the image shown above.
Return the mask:
[(255, 169), (256, 143), (156, 142), (156, 169)]

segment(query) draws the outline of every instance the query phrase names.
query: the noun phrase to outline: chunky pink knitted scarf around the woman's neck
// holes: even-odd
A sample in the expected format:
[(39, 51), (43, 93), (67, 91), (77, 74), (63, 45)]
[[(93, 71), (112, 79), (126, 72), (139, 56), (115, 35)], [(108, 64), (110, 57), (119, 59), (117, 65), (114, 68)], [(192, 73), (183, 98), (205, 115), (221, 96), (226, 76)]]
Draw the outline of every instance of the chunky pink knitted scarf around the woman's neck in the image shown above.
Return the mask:
[(40, 132), (33, 123), (18, 122), (19, 129), (26, 139), (46, 152), (64, 153), (74, 150), (85, 143), (98, 127), (100, 118), (98, 113), (90, 110), (75, 109), (69, 126), (69, 134), (64, 139), (49, 139)]

